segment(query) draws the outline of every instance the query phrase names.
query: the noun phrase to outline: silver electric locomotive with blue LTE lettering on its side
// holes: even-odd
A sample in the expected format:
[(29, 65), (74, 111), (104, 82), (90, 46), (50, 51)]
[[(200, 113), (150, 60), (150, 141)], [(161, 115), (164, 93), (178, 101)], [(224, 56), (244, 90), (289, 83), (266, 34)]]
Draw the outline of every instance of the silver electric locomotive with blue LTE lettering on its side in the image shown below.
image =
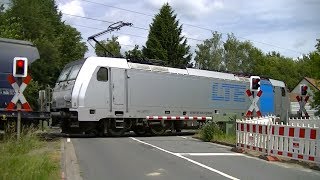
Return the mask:
[[(288, 95), (276, 94), (284, 88), (280, 81), (261, 81), (266, 97), (260, 104), (263, 115), (287, 114)], [(128, 130), (162, 134), (168, 128), (197, 126), (207, 119), (203, 117), (244, 116), (251, 105), (247, 89), (249, 78), (234, 74), (89, 57), (62, 71), (53, 90), (52, 115), (65, 131), (80, 127), (84, 132), (115, 136)], [(284, 110), (275, 109), (278, 101)]]

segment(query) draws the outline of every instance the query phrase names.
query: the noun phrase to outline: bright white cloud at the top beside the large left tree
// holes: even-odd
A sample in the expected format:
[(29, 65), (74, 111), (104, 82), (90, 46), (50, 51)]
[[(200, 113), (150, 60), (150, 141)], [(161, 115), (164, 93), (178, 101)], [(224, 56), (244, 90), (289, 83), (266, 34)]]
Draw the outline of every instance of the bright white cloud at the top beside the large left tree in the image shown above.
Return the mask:
[(58, 8), (61, 12), (77, 16), (85, 16), (82, 4), (78, 0), (70, 1), (65, 4), (59, 4)]

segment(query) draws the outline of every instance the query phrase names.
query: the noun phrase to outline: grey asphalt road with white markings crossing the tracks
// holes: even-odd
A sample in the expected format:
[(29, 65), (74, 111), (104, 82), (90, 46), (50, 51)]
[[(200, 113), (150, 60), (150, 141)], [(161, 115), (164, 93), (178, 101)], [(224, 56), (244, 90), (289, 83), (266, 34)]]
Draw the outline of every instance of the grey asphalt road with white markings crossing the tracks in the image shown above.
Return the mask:
[(267, 162), (189, 136), (72, 138), (88, 180), (319, 180), (320, 172)]

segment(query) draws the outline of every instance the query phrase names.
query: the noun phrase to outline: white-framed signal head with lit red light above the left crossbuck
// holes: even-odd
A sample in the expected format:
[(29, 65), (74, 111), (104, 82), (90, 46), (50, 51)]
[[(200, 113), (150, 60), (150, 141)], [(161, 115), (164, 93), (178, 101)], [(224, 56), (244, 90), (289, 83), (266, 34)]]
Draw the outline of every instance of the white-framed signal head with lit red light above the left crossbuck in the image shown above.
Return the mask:
[(13, 59), (13, 76), (26, 77), (28, 74), (28, 59), (25, 57), (15, 57)]

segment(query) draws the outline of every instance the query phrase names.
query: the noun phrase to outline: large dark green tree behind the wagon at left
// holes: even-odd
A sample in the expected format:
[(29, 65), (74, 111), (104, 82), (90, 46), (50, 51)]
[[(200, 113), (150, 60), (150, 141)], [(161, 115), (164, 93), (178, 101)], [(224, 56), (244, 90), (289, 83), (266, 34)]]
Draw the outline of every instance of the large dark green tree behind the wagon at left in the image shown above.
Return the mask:
[[(87, 47), (80, 33), (65, 24), (53, 0), (11, 0), (0, 13), (0, 37), (31, 41), (40, 59), (32, 63), (35, 89), (53, 85), (65, 64), (83, 58)], [(27, 95), (28, 96), (28, 95)], [(37, 96), (30, 96), (36, 102)]]

